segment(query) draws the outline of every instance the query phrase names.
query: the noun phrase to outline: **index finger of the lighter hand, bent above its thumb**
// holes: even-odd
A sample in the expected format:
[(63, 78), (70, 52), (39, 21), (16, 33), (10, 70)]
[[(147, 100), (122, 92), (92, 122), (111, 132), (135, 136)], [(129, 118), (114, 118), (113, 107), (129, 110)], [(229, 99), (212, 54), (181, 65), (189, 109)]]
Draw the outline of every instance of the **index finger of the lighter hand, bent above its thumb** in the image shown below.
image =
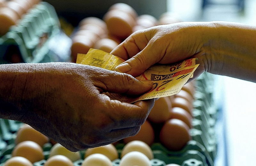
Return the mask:
[(150, 39), (147, 37), (146, 33), (147, 30), (144, 29), (131, 34), (122, 43), (116, 46), (110, 54), (121, 57), (124, 60), (130, 59), (147, 46)]

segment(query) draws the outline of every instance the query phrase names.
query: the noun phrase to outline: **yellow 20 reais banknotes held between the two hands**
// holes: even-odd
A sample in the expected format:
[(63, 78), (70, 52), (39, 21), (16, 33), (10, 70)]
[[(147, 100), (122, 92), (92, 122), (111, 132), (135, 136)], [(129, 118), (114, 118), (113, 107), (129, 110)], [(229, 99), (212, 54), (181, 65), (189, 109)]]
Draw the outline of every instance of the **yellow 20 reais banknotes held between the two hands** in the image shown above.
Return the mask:
[[(87, 54), (78, 54), (76, 63), (86, 64), (115, 71), (117, 65), (123, 63), (122, 58), (98, 49), (90, 49)], [(180, 92), (181, 88), (193, 77), (199, 64), (196, 58), (186, 59), (175, 64), (155, 64), (140, 76), (139, 80), (151, 80), (153, 88), (134, 101), (167, 97)]]

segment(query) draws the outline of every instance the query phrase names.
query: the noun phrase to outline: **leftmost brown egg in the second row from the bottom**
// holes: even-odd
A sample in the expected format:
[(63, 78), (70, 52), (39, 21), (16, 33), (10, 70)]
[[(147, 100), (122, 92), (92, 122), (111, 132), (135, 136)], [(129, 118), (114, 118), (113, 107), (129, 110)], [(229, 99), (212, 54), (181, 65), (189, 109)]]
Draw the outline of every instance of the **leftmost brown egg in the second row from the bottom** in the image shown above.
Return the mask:
[(12, 156), (21, 156), (30, 162), (38, 162), (44, 159), (43, 149), (36, 142), (23, 141), (20, 142), (12, 151)]

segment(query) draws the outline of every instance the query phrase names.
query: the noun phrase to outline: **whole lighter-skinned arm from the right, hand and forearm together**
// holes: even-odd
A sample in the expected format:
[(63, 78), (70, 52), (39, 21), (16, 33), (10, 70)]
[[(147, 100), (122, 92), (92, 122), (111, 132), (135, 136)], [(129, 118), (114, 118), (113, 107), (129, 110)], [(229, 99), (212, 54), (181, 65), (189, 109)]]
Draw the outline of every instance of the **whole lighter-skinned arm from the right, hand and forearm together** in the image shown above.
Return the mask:
[(138, 76), (151, 65), (196, 57), (194, 73), (226, 75), (256, 82), (256, 27), (241, 23), (181, 22), (131, 34), (111, 54), (126, 60), (116, 71)]

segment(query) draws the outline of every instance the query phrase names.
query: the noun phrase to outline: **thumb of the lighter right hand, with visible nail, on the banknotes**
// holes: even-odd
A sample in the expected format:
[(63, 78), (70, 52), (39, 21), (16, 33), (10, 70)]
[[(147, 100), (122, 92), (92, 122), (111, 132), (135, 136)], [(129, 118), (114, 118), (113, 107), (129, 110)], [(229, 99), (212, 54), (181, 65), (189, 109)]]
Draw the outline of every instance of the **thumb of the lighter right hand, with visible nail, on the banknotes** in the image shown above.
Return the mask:
[[(116, 66), (117, 72), (131, 74), (136, 77), (145, 72), (150, 66), (161, 60), (159, 49), (151, 49), (152, 45), (148, 44), (142, 51), (127, 61)], [(158, 50), (158, 51), (157, 51)]]

